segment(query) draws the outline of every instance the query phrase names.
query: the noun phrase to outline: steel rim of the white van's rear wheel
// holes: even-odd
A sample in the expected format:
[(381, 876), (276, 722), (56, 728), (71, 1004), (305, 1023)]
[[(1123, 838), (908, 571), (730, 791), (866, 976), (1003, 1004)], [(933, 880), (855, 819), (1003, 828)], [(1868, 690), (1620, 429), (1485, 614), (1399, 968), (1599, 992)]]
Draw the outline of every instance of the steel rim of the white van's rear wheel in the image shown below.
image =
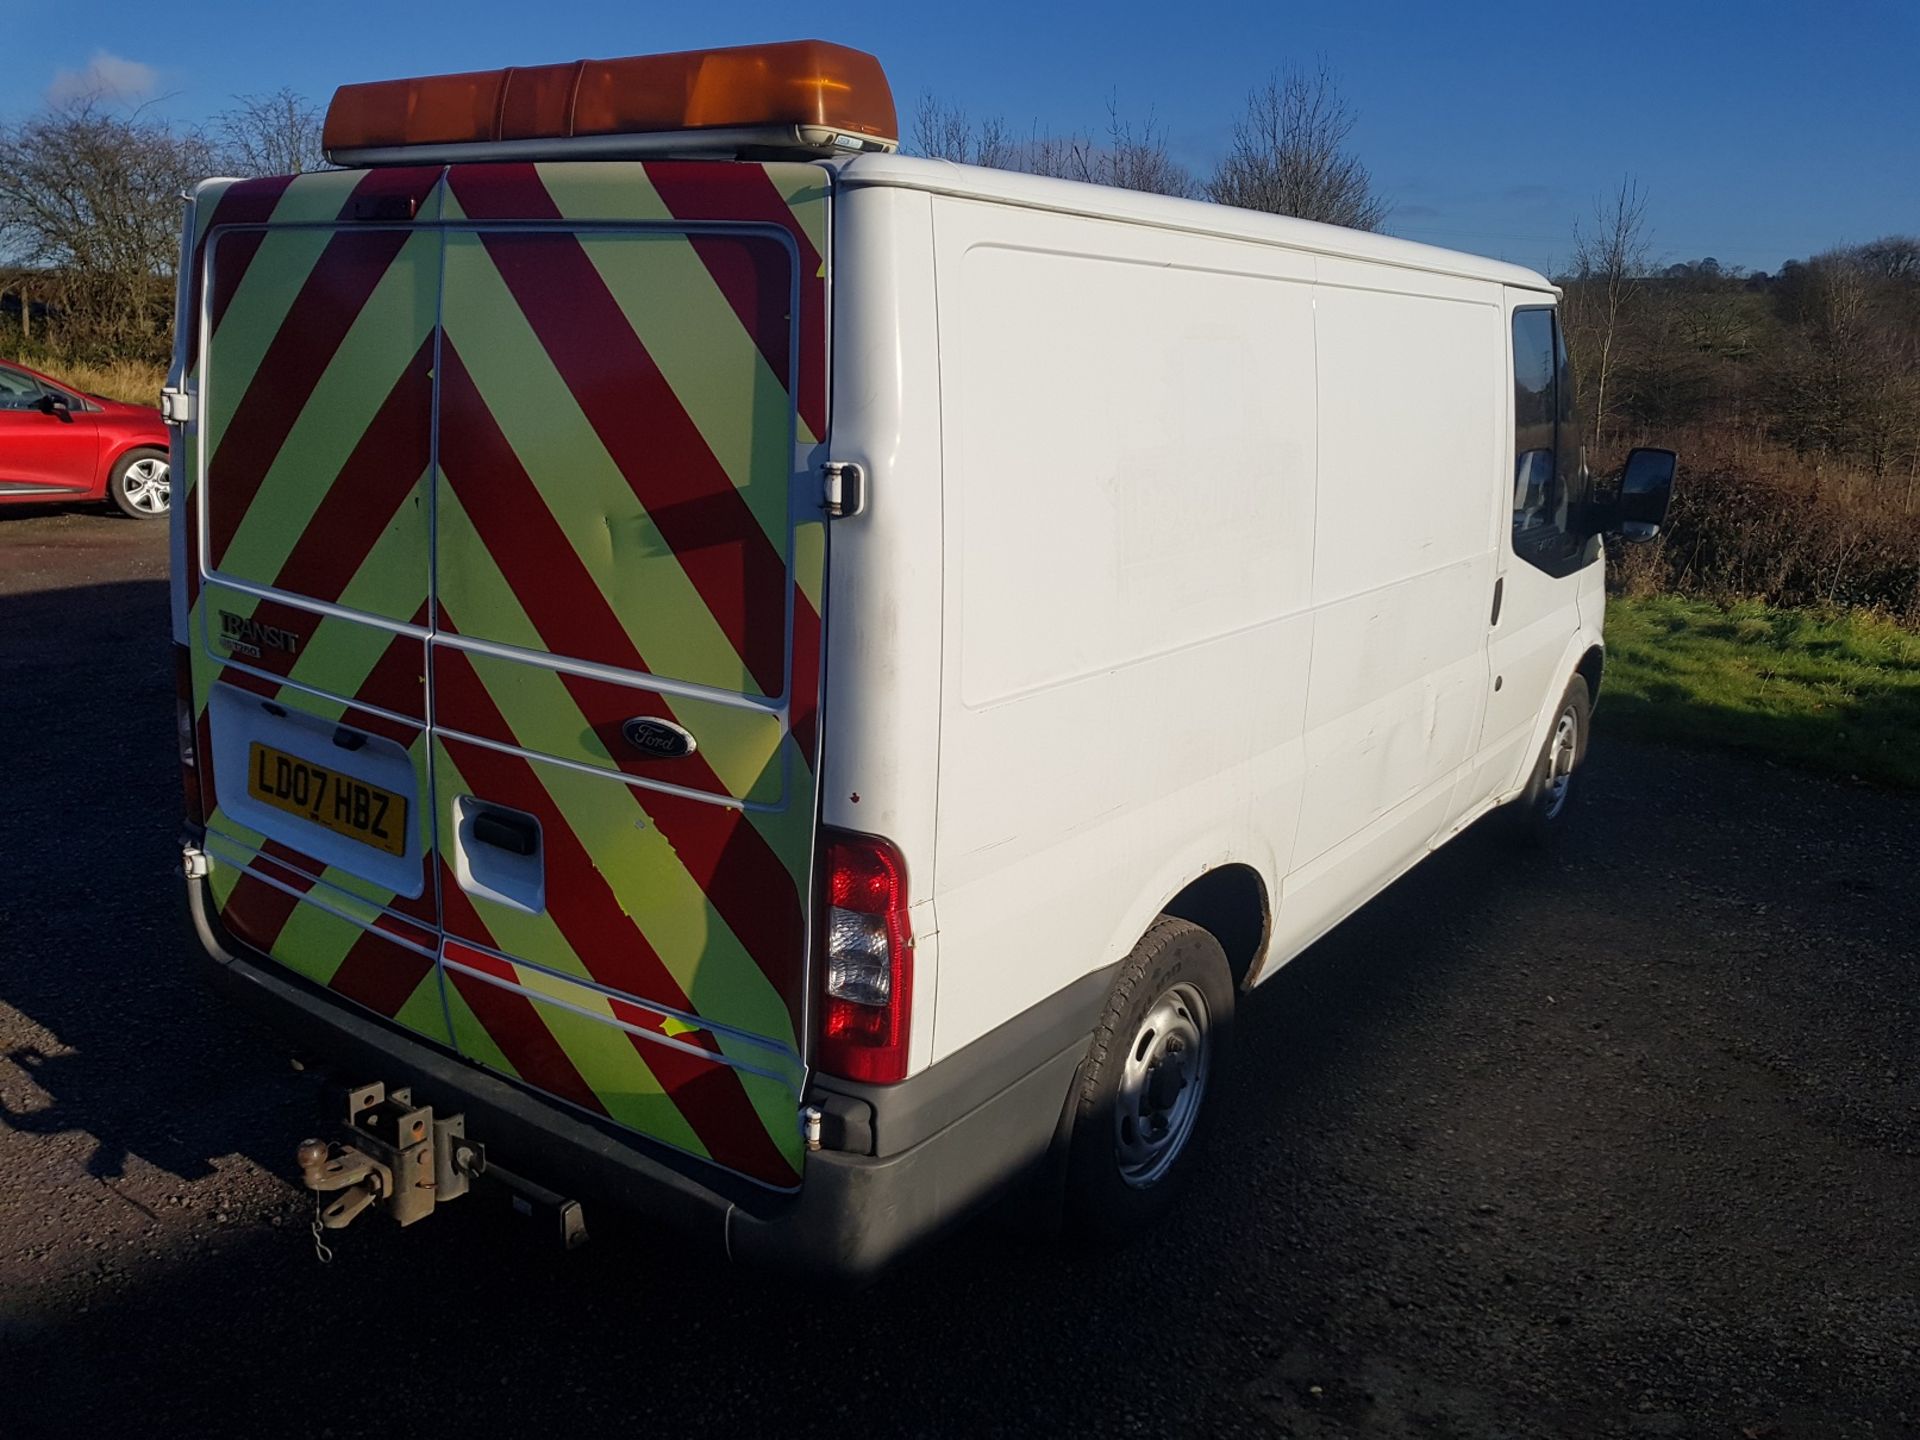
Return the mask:
[(1162, 991), (1140, 1018), (1114, 1096), (1114, 1160), (1144, 1190), (1179, 1160), (1200, 1116), (1212, 1043), (1206, 996), (1187, 985)]

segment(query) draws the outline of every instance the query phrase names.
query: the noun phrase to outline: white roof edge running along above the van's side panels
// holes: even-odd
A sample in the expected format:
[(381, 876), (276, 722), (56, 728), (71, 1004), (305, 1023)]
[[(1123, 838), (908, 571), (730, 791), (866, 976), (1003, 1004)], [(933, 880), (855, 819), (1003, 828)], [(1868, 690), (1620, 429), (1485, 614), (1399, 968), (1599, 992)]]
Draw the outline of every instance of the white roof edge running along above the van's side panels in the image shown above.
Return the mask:
[(1217, 234), (1235, 240), (1256, 240), (1319, 255), (1363, 259), (1377, 265), (1457, 275), (1471, 280), (1492, 280), (1526, 290), (1559, 294), (1559, 286), (1524, 265), (1469, 255), (1459, 250), (1423, 246), (1390, 234), (1350, 230), (1342, 225), (1300, 221), (1292, 215), (1265, 215), (1236, 205), (1215, 205), (1204, 200), (1177, 200), (1142, 190), (1119, 190), (1110, 184), (1056, 180), (1044, 175), (960, 165), (950, 159), (922, 159), (918, 156), (852, 156), (831, 161), (841, 184), (895, 186), (925, 190), (968, 200), (996, 200), (1004, 205), (1052, 209), (1066, 215), (1154, 225), (1167, 230)]

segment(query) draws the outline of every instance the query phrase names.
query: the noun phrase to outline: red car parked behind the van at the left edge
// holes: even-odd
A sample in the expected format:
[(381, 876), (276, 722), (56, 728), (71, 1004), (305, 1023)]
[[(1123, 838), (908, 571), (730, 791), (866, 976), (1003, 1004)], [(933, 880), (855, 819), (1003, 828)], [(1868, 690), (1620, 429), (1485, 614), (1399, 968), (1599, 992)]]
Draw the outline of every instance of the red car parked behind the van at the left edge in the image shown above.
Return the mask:
[(157, 409), (83, 396), (0, 361), (0, 505), (111, 499), (157, 520), (171, 493)]

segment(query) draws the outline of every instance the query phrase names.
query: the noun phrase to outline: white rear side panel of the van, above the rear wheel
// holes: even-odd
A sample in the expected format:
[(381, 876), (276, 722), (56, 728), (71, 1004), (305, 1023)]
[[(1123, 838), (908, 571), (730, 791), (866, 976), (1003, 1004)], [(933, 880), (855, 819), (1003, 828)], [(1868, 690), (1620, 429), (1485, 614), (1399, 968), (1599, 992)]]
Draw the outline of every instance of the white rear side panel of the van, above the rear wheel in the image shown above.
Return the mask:
[(1284, 874), (1315, 382), (1309, 257), (933, 217), (945, 1054), (1117, 960), (1210, 864)]

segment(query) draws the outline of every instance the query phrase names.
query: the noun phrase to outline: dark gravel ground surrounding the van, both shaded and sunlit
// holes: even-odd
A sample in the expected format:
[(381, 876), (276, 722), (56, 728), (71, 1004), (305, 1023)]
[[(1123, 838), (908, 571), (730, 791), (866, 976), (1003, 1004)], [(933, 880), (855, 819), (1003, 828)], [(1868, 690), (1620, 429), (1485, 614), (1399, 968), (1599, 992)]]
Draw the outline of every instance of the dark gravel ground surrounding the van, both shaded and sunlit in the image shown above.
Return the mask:
[[(165, 538), (0, 516), (0, 1434), (1920, 1434), (1920, 799), (1609, 741), (1242, 1008), (1179, 1215), (860, 1296), (474, 1202), (317, 1263), (192, 979)], [(611, 1233), (609, 1233), (611, 1231)]]

